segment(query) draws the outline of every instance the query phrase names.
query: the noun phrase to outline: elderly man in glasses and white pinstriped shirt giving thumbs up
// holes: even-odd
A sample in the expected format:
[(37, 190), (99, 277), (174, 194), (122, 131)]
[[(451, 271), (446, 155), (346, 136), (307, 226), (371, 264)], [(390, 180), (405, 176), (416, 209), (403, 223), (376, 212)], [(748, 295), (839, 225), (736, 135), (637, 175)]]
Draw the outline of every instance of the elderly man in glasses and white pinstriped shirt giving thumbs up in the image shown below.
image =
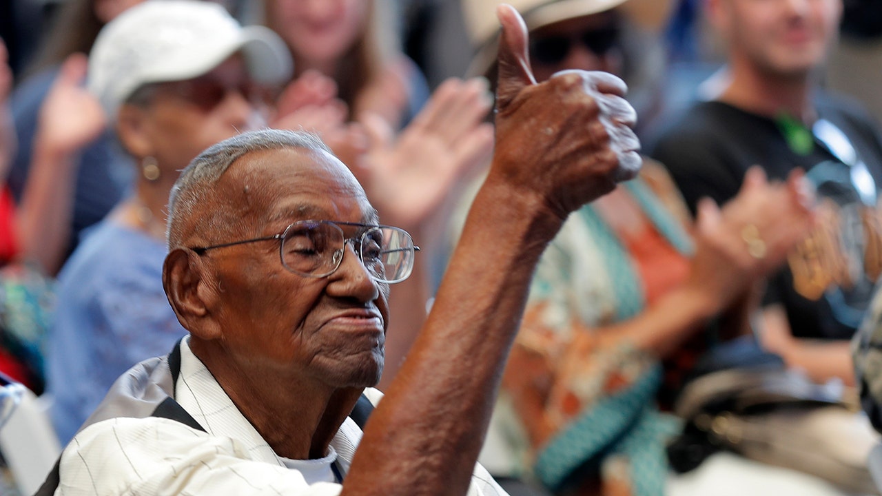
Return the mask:
[(475, 460), (534, 265), (570, 212), (633, 176), (639, 144), (620, 81), (536, 85), (523, 21), (499, 17), (490, 176), (363, 435), (348, 416), (376, 400), (388, 284), (413, 244), (318, 142), (251, 132), (195, 159), (169, 205), (163, 282), (189, 338), (117, 381), (57, 493), (501, 492)]

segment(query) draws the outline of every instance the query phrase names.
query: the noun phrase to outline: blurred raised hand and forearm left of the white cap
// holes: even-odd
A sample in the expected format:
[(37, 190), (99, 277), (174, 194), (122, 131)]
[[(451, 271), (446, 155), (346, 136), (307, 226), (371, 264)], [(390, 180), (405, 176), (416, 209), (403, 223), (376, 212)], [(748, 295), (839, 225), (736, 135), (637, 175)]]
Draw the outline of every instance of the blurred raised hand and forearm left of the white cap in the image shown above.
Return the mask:
[(68, 57), (40, 110), (34, 154), (19, 205), (20, 258), (47, 274), (64, 263), (70, 238), (78, 154), (107, 125), (98, 101), (81, 85), (86, 56)]

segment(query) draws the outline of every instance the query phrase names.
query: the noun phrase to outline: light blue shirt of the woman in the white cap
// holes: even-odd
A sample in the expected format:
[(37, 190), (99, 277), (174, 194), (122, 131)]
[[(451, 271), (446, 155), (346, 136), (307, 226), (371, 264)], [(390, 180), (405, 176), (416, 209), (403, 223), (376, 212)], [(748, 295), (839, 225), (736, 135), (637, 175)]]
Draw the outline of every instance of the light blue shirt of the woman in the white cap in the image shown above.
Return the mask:
[(186, 334), (162, 289), (165, 256), (165, 244), (105, 220), (59, 274), (47, 389), (63, 444), (123, 372), (167, 354)]

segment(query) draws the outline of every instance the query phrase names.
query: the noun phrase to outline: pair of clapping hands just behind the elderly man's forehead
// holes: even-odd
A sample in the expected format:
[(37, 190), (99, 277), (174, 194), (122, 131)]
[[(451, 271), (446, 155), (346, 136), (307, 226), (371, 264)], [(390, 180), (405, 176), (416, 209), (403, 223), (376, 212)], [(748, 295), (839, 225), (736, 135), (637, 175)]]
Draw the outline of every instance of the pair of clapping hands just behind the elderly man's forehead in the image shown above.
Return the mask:
[(317, 132), (363, 184), (384, 222), (419, 231), (455, 184), (490, 158), (483, 79), (450, 79), (397, 136), (386, 116), (347, 122), (333, 79), (304, 73), (283, 92), (273, 127)]

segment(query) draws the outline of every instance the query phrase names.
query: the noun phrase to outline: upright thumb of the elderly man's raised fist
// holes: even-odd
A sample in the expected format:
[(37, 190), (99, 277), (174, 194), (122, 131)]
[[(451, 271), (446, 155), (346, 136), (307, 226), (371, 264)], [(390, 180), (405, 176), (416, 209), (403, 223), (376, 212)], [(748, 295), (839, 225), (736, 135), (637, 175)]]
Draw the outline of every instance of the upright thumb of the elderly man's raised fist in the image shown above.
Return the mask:
[(497, 55), (497, 109), (502, 110), (524, 86), (536, 84), (536, 79), (527, 54), (527, 24), (524, 19), (508, 4), (497, 7), (497, 17), (502, 24)]

